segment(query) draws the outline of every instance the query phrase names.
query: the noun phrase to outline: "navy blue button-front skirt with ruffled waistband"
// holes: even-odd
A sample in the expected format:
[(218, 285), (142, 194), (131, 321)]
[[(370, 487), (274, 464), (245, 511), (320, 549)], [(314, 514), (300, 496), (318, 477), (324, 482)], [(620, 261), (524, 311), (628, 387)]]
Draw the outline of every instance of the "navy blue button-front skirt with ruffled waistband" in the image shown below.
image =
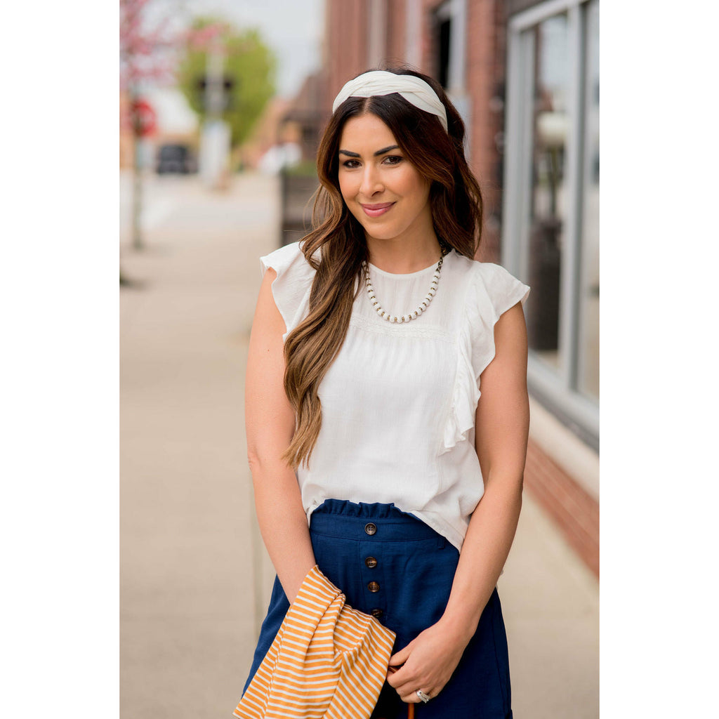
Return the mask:
[[(344, 592), (351, 607), (374, 615), (395, 632), (395, 652), (441, 618), (459, 551), (416, 517), (392, 504), (326, 500), (312, 513), (310, 536), (321, 572)], [(288, 608), (275, 579), (245, 690)], [(507, 635), (496, 589), (452, 678), (438, 696), (415, 710), (417, 719), (512, 718)], [(372, 718), (406, 716), (407, 705), (385, 682)]]

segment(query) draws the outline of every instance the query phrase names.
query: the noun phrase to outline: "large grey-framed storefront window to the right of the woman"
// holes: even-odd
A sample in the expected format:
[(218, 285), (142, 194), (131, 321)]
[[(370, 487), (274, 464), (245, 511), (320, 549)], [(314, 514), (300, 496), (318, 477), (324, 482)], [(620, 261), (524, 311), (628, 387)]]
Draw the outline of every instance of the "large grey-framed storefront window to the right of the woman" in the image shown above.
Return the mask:
[(502, 260), (531, 285), (530, 391), (599, 437), (599, 0), (510, 18)]

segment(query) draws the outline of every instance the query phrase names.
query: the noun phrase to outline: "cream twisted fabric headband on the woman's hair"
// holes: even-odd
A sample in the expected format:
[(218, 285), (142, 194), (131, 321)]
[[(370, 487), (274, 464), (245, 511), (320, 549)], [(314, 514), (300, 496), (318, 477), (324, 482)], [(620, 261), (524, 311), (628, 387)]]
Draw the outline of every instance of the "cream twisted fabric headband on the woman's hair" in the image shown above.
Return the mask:
[(431, 86), (415, 75), (395, 75), (387, 70), (370, 70), (345, 83), (332, 103), (332, 112), (350, 97), (374, 97), (395, 92), (415, 107), (439, 117), (444, 131), (449, 132), (446, 110)]

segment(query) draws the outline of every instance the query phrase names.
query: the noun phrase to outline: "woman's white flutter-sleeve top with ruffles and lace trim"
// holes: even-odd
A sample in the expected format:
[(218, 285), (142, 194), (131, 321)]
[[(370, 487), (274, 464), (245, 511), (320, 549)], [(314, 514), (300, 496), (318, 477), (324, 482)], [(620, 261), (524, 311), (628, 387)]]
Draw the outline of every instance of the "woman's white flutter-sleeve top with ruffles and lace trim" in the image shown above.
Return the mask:
[[(315, 270), (298, 242), (260, 259), (287, 332), (307, 316)], [(370, 265), (375, 296), (393, 314), (426, 296), (436, 263), (408, 275)], [(495, 356), (494, 325), (524, 303), (527, 285), (499, 265), (457, 252), (444, 258), (429, 308), (390, 324), (364, 288), (347, 336), (319, 387), (322, 426), (297, 479), (308, 519), (326, 499), (394, 503), (457, 549), (484, 493), (475, 451), (480, 375)]]

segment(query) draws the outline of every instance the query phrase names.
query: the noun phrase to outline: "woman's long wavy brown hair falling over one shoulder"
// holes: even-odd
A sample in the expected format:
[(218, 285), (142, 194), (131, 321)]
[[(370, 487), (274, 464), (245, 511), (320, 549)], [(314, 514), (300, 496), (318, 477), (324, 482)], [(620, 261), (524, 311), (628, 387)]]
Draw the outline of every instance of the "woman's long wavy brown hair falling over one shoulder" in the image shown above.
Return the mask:
[(283, 454), (294, 469), (308, 466), (322, 423), (319, 385), (349, 326), (361, 287), (362, 261), (369, 260), (365, 230), (347, 209), (339, 190), (339, 140), (350, 117), (375, 114), (392, 131), (407, 159), (430, 181), (434, 232), (460, 255), (474, 258), (482, 234), (482, 194), (464, 158), (464, 122), (444, 89), (428, 75), (389, 68), (429, 83), (446, 108), (448, 131), (435, 115), (398, 93), (351, 97), (334, 112), (317, 152), (320, 187), (313, 208), (313, 229), (301, 241), (307, 262), (316, 270), (309, 313), (285, 340), (285, 393), (296, 412), (296, 430)]

